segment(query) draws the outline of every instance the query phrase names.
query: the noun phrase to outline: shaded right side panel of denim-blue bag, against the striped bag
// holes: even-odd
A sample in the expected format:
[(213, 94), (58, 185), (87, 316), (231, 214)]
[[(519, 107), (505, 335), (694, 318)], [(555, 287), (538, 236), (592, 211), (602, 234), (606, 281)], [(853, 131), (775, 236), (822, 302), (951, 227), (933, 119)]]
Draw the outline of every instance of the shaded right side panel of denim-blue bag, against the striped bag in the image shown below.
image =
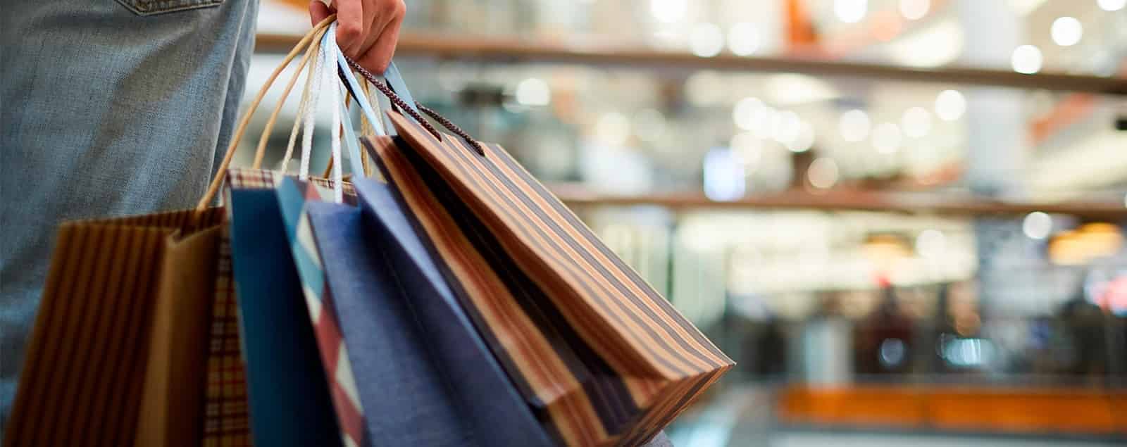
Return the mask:
[[(550, 446), (524, 399), (492, 357), (462, 310), (429, 249), (408, 221), (390, 185), (371, 179), (353, 184), (364, 227), (382, 241), (406, 298), (424, 328), (434, 360), (451, 386), (467, 424), (481, 445)], [(505, 423), (497, 423), (505, 421)]]

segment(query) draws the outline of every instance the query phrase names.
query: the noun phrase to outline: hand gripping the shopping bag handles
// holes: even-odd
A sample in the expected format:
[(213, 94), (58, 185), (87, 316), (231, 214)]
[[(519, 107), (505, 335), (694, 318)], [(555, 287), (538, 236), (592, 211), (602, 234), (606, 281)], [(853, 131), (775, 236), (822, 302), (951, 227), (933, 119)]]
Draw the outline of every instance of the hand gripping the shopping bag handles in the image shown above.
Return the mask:
[(361, 66), (380, 74), (391, 64), (407, 5), (403, 0), (321, 0), (309, 2), (313, 25), (337, 14), (337, 46)]

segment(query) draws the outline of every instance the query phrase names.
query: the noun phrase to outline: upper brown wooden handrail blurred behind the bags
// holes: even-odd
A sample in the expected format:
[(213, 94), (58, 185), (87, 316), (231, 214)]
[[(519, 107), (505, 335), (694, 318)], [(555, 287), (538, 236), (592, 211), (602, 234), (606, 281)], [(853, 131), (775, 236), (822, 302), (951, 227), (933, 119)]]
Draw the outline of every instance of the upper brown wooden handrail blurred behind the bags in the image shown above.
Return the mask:
[[(292, 47), (299, 37), (294, 35), (259, 34), (257, 36), (256, 51), (284, 52)], [(403, 34), (399, 39), (396, 55), (502, 63), (553, 62), (663, 70), (708, 69), (743, 72), (796, 72), (908, 82), (959, 83), (1127, 95), (1127, 79), (1124, 78), (1056, 73), (1021, 74), (1009, 70), (973, 68), (922, 69), (795, 57), (745, 57), (731, 54), (699, 57), (685, 52), (660, 51), (637, 46), (576, 46), (508, 38), (436, 34)]]

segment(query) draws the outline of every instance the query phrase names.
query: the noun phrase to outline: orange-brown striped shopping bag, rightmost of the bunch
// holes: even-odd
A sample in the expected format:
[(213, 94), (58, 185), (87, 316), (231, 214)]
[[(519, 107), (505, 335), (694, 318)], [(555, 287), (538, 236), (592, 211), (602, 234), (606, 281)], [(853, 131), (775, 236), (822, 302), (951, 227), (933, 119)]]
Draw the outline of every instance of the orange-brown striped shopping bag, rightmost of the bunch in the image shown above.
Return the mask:
[(389, 116), (365, 145), (560, 441), (641, 444), (733, 366), (503, 149)]

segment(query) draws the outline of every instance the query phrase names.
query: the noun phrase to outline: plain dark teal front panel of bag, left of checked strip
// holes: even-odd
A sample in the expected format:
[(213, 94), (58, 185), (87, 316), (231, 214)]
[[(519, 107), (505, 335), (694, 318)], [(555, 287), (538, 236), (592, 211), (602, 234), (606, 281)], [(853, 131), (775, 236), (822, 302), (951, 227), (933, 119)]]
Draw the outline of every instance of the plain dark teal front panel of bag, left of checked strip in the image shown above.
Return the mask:
[(317, 339), (274, 189), (231, 191), (231, 269), (256, 446), (339, 446)]

